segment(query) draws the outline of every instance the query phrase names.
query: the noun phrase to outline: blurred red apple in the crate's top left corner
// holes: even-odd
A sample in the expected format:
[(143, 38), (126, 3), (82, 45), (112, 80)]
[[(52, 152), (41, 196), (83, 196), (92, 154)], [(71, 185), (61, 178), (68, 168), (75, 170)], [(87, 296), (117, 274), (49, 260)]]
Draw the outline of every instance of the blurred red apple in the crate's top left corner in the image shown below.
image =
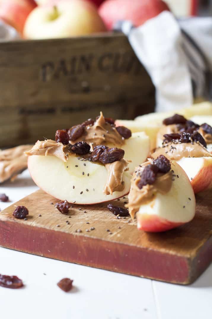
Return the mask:
[(22, 34), (26, 18), (36, 7), (37, 4), (34, 0), (2, 0), (0, 4), (0, 19)]

